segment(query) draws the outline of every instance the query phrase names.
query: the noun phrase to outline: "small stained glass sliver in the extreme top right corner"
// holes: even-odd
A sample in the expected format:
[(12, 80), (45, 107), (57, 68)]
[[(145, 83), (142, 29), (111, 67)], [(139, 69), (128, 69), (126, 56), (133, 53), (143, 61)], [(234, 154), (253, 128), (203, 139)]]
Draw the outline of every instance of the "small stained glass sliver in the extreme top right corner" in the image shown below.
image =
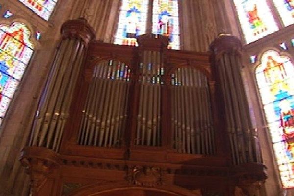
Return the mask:
[(294, 0), (273, 0), (285, 26), (294, 24)]

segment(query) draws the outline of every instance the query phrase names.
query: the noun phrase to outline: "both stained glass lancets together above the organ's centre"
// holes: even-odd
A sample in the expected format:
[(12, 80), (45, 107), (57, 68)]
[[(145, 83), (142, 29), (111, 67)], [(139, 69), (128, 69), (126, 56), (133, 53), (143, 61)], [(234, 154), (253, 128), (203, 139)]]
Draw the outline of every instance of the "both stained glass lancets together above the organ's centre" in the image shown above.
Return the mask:
[[(152, 17), (147, 14), (149, 4), (153, 5)], [(179, 49), (178, 0), (122, 0), (114, 43), (138, 46), (137, 36), (145, 34), (147, 28), (169, 37), (169, 49)]]

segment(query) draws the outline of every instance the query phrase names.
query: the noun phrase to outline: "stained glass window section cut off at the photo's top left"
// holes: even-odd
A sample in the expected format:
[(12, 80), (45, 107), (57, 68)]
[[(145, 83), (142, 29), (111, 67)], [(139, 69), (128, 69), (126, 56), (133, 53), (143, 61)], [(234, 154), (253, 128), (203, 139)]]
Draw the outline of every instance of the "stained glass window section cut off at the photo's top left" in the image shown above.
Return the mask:
[(19, 0), (26, 7), (48, 21), (58, 0)]

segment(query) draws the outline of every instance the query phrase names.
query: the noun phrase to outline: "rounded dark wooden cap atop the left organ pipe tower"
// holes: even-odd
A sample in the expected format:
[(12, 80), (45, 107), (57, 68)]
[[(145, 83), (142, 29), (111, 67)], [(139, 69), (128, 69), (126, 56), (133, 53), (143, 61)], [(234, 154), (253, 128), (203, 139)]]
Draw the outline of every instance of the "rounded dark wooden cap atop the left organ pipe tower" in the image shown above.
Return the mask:
[(81, 38), (87, 45), (95, 38), (95, 32), (84, 18), (66, 21), (60, 29), (62, 38)]

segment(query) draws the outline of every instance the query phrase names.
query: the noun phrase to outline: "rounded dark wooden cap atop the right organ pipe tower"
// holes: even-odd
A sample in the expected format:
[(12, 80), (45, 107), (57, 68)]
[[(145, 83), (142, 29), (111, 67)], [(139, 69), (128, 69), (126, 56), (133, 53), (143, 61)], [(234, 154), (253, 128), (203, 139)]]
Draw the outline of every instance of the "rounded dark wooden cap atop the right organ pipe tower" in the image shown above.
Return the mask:
[(239, 38), (230, 34), (221, 33), (210, 45), (210, 50), (215, 55), (224, 52), (236, 52), (243, 49), (242, 42)]

